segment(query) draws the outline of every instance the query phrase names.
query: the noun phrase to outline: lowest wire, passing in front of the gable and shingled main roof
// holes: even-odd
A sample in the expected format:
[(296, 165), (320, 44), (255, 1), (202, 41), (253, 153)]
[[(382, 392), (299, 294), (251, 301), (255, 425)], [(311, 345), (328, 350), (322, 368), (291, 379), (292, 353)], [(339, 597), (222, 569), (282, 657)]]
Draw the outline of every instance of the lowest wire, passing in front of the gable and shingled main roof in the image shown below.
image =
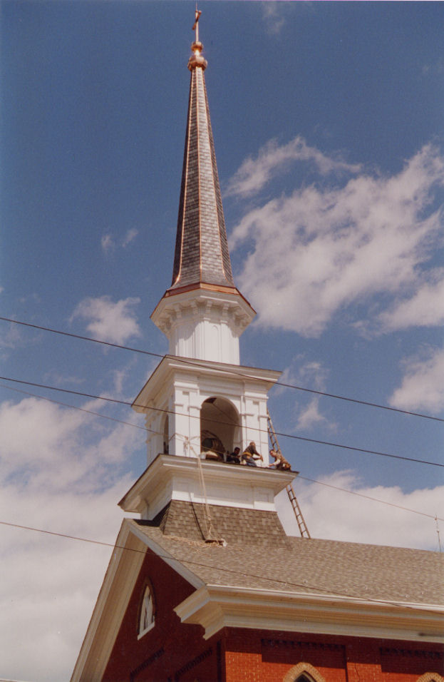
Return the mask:
[[(67, 535), (64, 533), (56, 533), (55, 531), (48, 531), (48, 530), (41, 529), (41, 528), (34, 528), (33, 526), (22, 526), (21, 524), (13, 524), (13, 523), (9, 523), (8, 521), (0, 521), (0, 525), (11, 526), (12, 528), (18, 528), (18, 529), (27, 530), (27, 531), (35, 531), (36, 533), (44, 533), (46, 535), (63, 537), (63, 538), (66, 538), (68, 540), (78, 540), (81, 542), (89, 542), (91, 544), (98, 544), (98, 545), (102, 545), (105, 547), (112, 547), (113, 549), (122, 549), (123, 551), (133, 551), (133, 552), (137, 552), (138, 554), (146, 554), (147, 553), (146, 549), (135, 549), (134, 547), (125, 547), (124, 545), (112, 544), (110, 542), (103, 542), (100, 540), (91, 540), (91, 539), (83, 538), (83, 537), (76, 536), (76, 535)], [(182, 539), (182, 538), (180, 538), (180, 539)], [(264, 575), (257, 575), (257, 574), (253, 574), (253, 573), (243, 573), (242, 571), (237, 571), (236, 569), (229, 569), (229, 568), (227, 568), (227, 566), (214, 566), (213, 564), (204, 564), (204, 563), (202, 563), (202, 561), (191, 561), (190, 559), (176, 559), (175, 556), (171, 556), (171, 555), (167, 555), (167, 554), (157, 554), (156, 553), (156, 556), (158, 556), (160, 559), (171, 559), (172, 558), (172, 559), (175, 559), (175, 561), (177, 561), (180, 564), (189, 564), (190, 566), (200, 566), (201, 568), (212, 569), (212, 570), (220, 569), (221, 571), (224, 571), (224, 573), (232, 573), (235, 576), (242, 575), (242, 576), (247, 577), (247, 578), (253, 578), (253, 579), (257, 578), (260, 580), (267, 580), (269, 582), (272, 582), (273, 584), (282, 583), (284, 585), (291, 586), (291, 587), (301, 587), (301, 588), (304, 588), (306, 590), (307, 589), (316, 590), (316, 592), (319, 592), (319, 593), (330, 594), (330, 595), (334, 595), (334, 596), (349, 597), (351, 599), (363, 599), (364, 601), (370, 601), (371, 603), (375, 603), (375, 604), (388, 604), (390, 606), (398, 606), (400, 608), (414, 609), (415, 611), (425, 610), (425, 609), (416, 609), (415, 606), (406, 606), (405, 604), (399, 604), (396, 601), (388, 601), (386, 599), (371, 599), (371, 597), (367, 597), (367, 596), (362, 597), (362, 596), (356, 596), (356, 594), (349, 594), (347, 592), (331, 591), (331, 590), (326, 589), (326, 588), (317, 587), (315, 585), (309, 585), (306, 583), (293, 583), (293, 582), (288, 581), (288, 580), (279, 579), (276, 576), (272, 576), (271, 578), (268, 578), (267, 576), (264, 576)]]

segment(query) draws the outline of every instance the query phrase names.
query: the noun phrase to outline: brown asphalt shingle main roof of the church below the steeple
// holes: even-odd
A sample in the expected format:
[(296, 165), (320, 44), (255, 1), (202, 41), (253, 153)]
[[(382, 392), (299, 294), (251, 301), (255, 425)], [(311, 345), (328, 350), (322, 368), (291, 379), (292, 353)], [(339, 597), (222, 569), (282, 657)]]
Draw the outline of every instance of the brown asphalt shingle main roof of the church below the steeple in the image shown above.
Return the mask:
[[(187, 502), (181, 504), (191, 506)], [(282, 539), (278, 531), (269, 539), (261, 539), (262, 529), (274, 526), (276, 521), (280, 526), (277, 514), (217, 509), (218, 520), (225, 517), (228, 530), (232, 527), (233, 512), (239, 519), (241, 512), (249, 512), (243, 519), (248, 521), (249, 533), (242, 530), (241, 520), (239, 535), (227, 532), (227, 546), (220, 546), (185, 532), (188, 521), (182, 529), (172, 524), (171, 519), (165, 521), (165, 513), (157, 521), (130, 522), (205, 584), (444, 606), (443, 554), (333, 540), (290, 536)], [(171, 516), (180, 514), (177, 507), (168, 512)], [(202, 509), (197, 513), (202, 514)], [(264, 514), (269, 514), (268, 523)]]

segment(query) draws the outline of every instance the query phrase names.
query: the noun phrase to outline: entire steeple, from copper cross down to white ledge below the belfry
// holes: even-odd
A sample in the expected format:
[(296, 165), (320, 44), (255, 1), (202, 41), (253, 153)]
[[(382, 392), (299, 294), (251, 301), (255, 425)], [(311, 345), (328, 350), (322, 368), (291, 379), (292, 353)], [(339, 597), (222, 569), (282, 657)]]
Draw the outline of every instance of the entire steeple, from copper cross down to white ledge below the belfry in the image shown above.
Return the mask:
[[(175, 275), (151, 315), (170, 352), (135, 398), (134, 409), (146, 417), (148, 469), (120, 502), (145, 519), (171, 500), (273, 511), (274, 494), (294, 475), (266, 468), (268, 391), (280, 372), (239, 366), (239, 336), (254, 310), (234, 287), (229, 267), (202, 49), (196, 35)], [(232, 467), (207, 452), (210, 446), (243, 452), (250, 442), (263, 466)]]

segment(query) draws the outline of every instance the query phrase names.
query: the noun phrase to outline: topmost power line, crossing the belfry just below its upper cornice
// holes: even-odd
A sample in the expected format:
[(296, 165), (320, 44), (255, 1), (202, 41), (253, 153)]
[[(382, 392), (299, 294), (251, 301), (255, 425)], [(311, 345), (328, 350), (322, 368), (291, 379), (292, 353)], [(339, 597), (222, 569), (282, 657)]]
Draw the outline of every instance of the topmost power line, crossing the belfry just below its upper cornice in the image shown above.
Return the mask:
[[(100, 344), (105, 345), (105, 346), (110, 346), (113, 348), (120, 348), (120, 350), (130, 350), (132, 352), (143, 353), (143, 355), (151, 355), (153, 357), (160, 357), (160, 358), (165, 357), (165, 355), (160, 355), (160, 353), (155, 353), (155, 352), (152, 352), (150, 350), (142, 350), (140, 348), (132, 348), (130, 346), (124, 346), (124, 345), (120, 345), (118, 343), (111, 343), (109, 341), (103, 341), (100, 339), (93, 339), (92, 337), (88, 337), (88, 336), (81, 336), (78, 334), (72, 334), (71, 332), (63, 332), (61, 330), (51, 329), (51, 327), (42, 327), (40, 325), (31, 325), (30, 322), (21, 322), (19, 320), (12, 320), (10, 317), (0, 317), (0, 320), (3, 320), (4, 322), (12, 322), (15, 325), (22, 325), (24, 327), (32, 327), (33, 329), (38, 329), (38, 330), (45, 331), (45, 332), (52, 332), (53, 334), (60, 334), (62, 336), (72, 337), (74, 339), (81, 339), (83, 341), (91, 341), (93, 343), (100, 343)], [(177, 357), (177, 356), (175, 356), (175, 360), (177, 360), (177, 362), (182, 362), (182, 364), (184, 364), (184, 365), (191, 365), (192, 367), (206, 367), (206, 365), (203, 365), (203, 363), (199, 362), (199, 360), (192, 360), (192, 359), (187, 360), (186, 358)], [(235, 375), (237, 377), (244, 377), (246, 379), (255, 379), (255, 380), (259, 380), (259, 381), (264, 381), (264, 380), (258, 379), (258, 377), (243, 374), (241, 372), (233, 372), (232, 370), (224, 370), (223, 368), (219, 368), (219, 371), (220, 372), (227, 372), (227, 374)], [(350, 397), (346, 397), (344, 395), (337, 395), (335, 393), (326, 393), (324, 391), (318, 391), (318, 390), (314, 390), (312, 388), (306, 388), (306, 387), (297, 386), (294, 384), (286, 384), (284, 382), (279, 382), (279, 381), (277, 381), (275, 383), (275, 385), (276, 386), (282, 386), (283, 388), (291, 388), (293, 390), (303, 391), (306, 393), (313, 393), (314, 395), (320, 395), (320, 396), (327, 397), (327, 398), (335, 398), (337, 400), (344, 400), (346, 402), (353, 402), (353, 403), (360, 404), (360, 405), (366, 405), (367, 407), (377, 407), (378, 409), (386, 409), (389, 412), (399, 412), (400, 414), (408, 414), (411, 417), (421, 417), (422, 419), (432, 419), (435, 422), (444, 422), (444, 418), (433, 417), (431, 414), (423, 414), (422, 412), (411, 412), (411, 410), (408, 410), (408, 409), (399, 409), (398, 407), (390, 407), (389, 405), (382, 405), (382, 404), (378, 404), (376, 402), (369, 402), (367, 400), (350, 398)]]

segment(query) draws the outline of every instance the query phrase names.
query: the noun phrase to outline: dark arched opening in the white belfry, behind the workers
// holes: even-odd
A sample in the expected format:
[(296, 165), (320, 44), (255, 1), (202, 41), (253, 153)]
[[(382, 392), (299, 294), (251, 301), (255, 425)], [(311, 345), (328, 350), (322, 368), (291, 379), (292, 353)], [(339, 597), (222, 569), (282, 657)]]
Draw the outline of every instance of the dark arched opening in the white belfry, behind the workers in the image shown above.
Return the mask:
[(200, 408), (201, 452), (216, 453), (214, 459), (224, 459), (240, 445), (239, 413), (226, 398), (212, 396), (202, 402)]

